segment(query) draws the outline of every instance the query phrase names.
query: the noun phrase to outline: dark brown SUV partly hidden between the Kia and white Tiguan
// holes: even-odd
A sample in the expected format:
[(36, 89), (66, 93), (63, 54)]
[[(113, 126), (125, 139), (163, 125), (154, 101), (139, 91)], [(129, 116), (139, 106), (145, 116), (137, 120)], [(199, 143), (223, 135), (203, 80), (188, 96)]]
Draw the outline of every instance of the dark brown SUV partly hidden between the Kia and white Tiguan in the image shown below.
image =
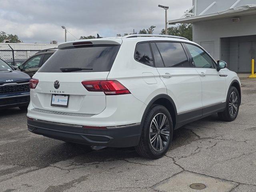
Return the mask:
[(51, 48), (37, 52), (20, 66), (18, 66), (18, 70), (32, 77), (38, 71), (38, 69), (50, 58), (50, 56), (54, 54), (55, 51), (55, 48)]

